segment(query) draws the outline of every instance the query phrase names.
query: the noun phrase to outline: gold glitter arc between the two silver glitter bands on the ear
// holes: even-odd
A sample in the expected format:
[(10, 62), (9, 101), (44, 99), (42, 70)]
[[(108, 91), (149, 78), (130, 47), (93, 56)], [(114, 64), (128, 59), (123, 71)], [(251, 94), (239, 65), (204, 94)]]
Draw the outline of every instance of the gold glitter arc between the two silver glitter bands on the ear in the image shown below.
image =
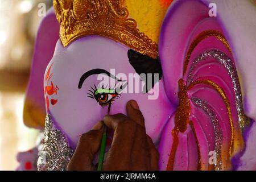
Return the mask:
[(226, 96), (224, 90), (220, 86), (218, 86), (216, 84), (216, 82), (213, 82), (211, 80), (196, 80), (196, 81), (193, 81), (188, 86), (188, 90), (192, 89), (194, 86), (196, 86), (198, 84), (205, 84), (205, 85), (211, 86), (212, 88), (214, 88), (214, 90), (216, 90), (220, 94), (220, 96), (222, 97), (222, 100), (225, 102), (226, 109), (228, 110), (229, 122), (230, 122), (230, 127), (231, 127), (231, 140), (230, 140), (230, 147), (229, 147), (229, 155), (232, 156), (233, 148), (234, 148), (234, 124), (233, 124), (232, 113), (231, 113), (230, 103), (229, 103), (228, 97)]

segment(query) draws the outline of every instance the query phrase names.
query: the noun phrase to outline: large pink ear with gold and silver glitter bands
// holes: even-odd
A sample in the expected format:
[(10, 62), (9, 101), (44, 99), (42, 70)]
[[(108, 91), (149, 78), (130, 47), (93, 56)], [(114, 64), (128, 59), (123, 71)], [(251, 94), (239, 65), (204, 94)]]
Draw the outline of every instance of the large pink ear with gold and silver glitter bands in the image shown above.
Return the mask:
[[(160, 169), (198, 169), (198, 161), (204, 170), (230, 169), (230, 159), (243, 150), (242, 129), (247, 119), (237, 67), (242, 78), (251, 81), (245, 89), (253, 90), (255, 51), (244, 49), (256, 46), (255, 35), (250, 34), (254, 26), (236, 16), (242, 9), (246, 17), (255, 12), (251, 11), (249, 1), (244, 1), (242, 8), (236, 8), (240, 7), (237, 0), (229, 5), (215, 2), (217, 17), (209, 16), (210, 1), (184, 0), (172, 3), (164, 18), (159, 56), (166, 94), (177, 105), (177, 112), (160, 139)], [(226, 8), (222, 9), (223, 6)], [(240, 23), (243, 28), (238, 26)], [(256, 98), (250, 97), (251, 101)], [(219, 156), (215, 167), (208, 163), (211, 151)]]

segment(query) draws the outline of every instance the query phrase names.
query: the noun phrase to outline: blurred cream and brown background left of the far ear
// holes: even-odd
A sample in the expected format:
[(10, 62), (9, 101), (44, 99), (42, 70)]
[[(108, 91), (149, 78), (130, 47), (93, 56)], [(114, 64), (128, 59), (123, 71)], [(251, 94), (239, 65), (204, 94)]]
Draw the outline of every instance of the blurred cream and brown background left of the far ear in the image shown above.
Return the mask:
[(23, 103), (36, 31), (39, 3), (52, 0), (0, 0), (0, 170), (18, 167), (16, 154), (35, 146), (38, 130), (23, 125)]

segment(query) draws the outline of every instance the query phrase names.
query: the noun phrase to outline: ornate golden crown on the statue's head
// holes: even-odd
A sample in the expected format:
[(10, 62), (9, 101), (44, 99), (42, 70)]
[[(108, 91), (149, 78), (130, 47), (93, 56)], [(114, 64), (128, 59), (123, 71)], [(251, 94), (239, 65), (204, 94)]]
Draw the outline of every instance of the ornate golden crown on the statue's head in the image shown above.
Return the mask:
[(64, 47), (86, 35), (106, 36), (144, 55), (158, 57), (158, 45), (128, 18), (125, 0), (53, 0)]

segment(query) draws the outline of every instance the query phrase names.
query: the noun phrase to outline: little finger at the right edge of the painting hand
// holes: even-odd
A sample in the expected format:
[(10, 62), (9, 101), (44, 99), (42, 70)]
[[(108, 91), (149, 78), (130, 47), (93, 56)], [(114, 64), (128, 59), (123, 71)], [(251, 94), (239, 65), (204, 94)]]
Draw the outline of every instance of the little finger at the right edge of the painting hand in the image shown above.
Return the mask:
[(151, 170), (158, 170), (159, 152), (155, 148), (155, 144), (152, 139), (147, 135), (148, 152), (150, 154), (150, 166)]

